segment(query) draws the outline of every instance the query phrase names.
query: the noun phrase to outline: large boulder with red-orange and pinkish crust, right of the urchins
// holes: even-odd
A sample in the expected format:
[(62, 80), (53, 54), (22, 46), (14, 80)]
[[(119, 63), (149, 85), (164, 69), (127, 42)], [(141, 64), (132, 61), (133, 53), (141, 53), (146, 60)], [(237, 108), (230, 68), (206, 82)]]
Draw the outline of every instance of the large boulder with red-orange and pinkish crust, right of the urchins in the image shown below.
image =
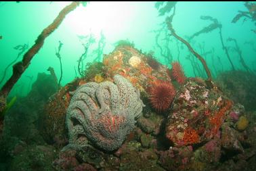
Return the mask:
[(177, 147), (209, 141), (218, 135), (232, 101), (204, 80), (192, 78), (177, 92), (166, 125), (166, 137)]

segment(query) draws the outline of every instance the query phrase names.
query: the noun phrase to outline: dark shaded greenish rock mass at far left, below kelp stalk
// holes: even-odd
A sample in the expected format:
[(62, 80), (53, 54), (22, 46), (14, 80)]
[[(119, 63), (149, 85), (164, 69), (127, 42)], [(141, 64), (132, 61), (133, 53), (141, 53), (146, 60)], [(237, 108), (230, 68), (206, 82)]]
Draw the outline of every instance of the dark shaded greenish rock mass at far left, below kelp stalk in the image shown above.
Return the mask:
[(17, 97), (5, 114), (0, 137), (0, 170), (51, 169), (56, 151), (44, 142), (40, 125), (45, 103), (57, 91), (53, 76), (39, 73), (30, 93)]

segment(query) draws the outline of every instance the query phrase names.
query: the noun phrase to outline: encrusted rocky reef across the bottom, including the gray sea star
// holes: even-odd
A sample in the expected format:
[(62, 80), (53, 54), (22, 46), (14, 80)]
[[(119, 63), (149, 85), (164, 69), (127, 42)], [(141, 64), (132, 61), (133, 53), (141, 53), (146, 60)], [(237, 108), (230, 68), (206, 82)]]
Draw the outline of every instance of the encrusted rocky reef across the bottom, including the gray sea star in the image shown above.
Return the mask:
[[(0, 141), (9, 162), (0, 170), (255, 170), (255, 112), (232, 99), (232, 89), (187, 78), (175, 65), (122, 44), (51, 97), (37, 93), (44, 100), (30, 112), (39, 117), (25, 124), (41, 124), (27, 127), (29, 139)], [(168, 89), (150, 91), (163, 81)], [(156, 109), (163, 100), (150, 98), (169, 90)]]

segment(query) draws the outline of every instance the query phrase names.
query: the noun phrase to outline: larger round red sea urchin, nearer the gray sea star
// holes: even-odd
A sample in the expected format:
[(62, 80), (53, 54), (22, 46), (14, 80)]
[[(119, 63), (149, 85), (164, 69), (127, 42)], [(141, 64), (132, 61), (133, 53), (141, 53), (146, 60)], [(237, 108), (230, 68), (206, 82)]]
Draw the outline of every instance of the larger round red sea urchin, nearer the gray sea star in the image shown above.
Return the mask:
[(175, 97), (175, 88), (170, 82), (156, 81), (150, 89), (150, 102), (158, 112), (168, 109)]

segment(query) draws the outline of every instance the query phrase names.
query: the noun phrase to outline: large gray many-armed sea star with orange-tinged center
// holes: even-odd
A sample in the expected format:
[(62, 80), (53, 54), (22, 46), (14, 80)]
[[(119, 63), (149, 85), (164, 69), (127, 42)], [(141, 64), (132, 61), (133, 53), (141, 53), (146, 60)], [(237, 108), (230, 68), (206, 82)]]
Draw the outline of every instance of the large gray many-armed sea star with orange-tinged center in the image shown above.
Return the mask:
[(69, 146), (79, 149), (89, 139), (106, 151), (118, 149), (133, 130), (143, 106), (140, 92), (123, 76), (115, 75), (114, 83), (83, 84), (74, 92), (67, 110)]

